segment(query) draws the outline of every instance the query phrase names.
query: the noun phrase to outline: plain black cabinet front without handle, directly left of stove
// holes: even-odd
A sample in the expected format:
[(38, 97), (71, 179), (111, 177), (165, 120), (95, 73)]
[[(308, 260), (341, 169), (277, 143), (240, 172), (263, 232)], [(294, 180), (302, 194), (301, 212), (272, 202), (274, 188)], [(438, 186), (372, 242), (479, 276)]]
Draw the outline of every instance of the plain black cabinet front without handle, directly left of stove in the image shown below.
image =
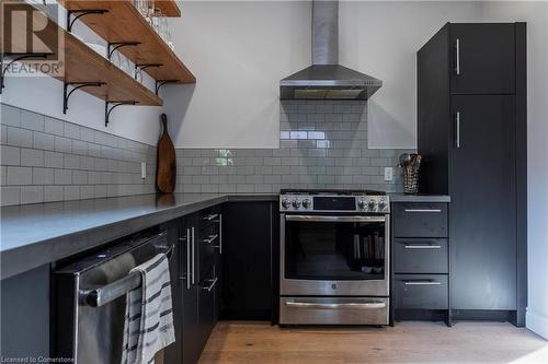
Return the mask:
[(272, 202), (230, 202), (222, 213), (222, 315), (272, 318)]

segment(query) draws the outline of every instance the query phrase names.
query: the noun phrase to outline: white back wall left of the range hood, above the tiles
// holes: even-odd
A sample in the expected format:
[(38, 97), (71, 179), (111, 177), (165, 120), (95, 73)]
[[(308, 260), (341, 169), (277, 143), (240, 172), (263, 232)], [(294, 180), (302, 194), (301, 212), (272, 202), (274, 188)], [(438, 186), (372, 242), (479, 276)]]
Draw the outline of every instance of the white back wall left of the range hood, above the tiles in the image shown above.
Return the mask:
[(310, 62), (310, 3), (180, 7), (175, 50), (197, 83), (167, 89), (175, 146), (277, 148), (279, 80)]

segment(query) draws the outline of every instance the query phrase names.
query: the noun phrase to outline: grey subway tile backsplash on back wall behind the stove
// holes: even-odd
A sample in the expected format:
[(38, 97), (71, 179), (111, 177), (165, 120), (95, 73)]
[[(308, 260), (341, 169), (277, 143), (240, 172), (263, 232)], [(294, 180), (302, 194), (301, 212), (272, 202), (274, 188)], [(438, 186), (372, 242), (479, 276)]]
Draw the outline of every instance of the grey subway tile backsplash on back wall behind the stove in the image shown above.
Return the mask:
[[(367, 103), (284, 101), (279, 149), (179, 149), (180, 192), (277, 193), (283, 188), (401, 191), (398, 156), (367, 149)], [(385, 181), (385, 167), (393, 180)]]

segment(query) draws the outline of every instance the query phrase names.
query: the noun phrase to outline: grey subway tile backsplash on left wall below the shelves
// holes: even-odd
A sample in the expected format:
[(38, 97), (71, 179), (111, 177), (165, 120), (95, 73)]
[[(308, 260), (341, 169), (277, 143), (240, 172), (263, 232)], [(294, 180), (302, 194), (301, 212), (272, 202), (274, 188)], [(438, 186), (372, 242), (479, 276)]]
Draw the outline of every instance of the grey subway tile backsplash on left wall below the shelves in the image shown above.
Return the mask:
[(0, 108), (2, 206), (155, 192), (155, 146), (10, 105)]

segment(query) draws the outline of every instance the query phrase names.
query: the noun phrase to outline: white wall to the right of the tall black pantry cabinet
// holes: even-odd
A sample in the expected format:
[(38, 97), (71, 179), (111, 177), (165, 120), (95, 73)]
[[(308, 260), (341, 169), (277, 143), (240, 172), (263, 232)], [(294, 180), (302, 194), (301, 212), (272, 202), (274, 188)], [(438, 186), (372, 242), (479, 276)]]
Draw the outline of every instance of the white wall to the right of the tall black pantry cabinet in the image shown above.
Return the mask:
[(486, 22), (527, 22), (527, 327), (548, 339), (548, 2), (486, 2)]

